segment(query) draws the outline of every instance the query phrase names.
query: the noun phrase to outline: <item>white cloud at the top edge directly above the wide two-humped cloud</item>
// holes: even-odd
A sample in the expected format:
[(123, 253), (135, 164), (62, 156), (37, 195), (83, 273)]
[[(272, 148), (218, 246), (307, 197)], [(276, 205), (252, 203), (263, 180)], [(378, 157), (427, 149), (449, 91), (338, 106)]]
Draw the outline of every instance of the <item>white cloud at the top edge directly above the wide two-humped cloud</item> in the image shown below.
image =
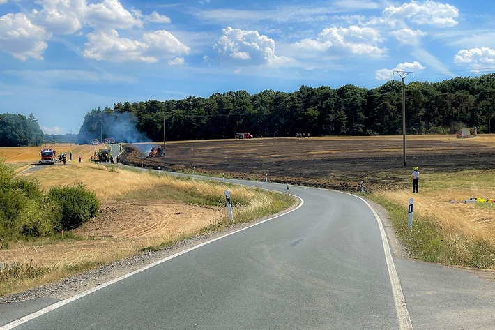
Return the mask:
[(93, 29), (132, 29), (143, 26), (142, 21), (125, 10), (118, 0), (90, 3), (86, 8), (86, 20)]

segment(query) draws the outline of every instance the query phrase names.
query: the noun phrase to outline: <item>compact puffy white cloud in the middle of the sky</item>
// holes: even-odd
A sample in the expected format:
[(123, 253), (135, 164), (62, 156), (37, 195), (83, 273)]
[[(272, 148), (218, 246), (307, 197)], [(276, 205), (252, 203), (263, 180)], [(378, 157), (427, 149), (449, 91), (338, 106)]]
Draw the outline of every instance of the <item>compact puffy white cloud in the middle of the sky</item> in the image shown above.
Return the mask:
[(223, 36), (213, 45), (220, 59), (236, 65), (273, 65), (282, 66), (291, 62), (287, 57), (275, 55), (275, 41), (261, 36), (258, 31), (245, 31), (227, 27), (222, 29)]

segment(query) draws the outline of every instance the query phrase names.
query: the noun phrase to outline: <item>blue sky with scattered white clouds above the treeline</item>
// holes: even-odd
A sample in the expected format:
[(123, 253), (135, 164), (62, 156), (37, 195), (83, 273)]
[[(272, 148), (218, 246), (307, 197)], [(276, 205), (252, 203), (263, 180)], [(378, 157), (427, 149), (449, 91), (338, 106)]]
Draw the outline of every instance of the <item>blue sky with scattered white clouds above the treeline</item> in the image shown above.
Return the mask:
[(47, 134), (119, 102), (494, 71), (493, 0), (0, 0), (0, 114)]

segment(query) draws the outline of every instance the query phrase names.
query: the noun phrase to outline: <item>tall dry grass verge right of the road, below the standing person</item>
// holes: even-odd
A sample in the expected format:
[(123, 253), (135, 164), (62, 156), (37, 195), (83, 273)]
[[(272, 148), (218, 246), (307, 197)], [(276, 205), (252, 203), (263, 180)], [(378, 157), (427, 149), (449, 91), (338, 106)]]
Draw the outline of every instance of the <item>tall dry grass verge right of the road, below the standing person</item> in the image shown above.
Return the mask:
[[(425, 174), (420, 191), (386, 190), (374, 195), (391, 203), (396, 230), (414, 257), (446, 264), (495, 269), (495, 203), (464, 203), (495, 198), (495, 170)], [(405, 229), (413, 197), (413, 230)], [(395, 210), (394, 210), (395, 209)]]

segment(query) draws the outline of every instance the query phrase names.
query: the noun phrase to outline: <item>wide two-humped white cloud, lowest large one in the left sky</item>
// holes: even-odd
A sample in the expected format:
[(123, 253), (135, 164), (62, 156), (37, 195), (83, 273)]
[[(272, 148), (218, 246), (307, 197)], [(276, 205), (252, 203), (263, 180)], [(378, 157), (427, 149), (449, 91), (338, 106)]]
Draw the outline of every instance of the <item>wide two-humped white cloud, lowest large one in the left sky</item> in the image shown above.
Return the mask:
[(188, 54), (189, 47), (183, 45), (172, 33), (155, 31), (144, 33), (142, 40), (121, 38), (119, 33), (95, 31), (89, 33), (84, 57), (98, 61), (141, 61), (156, 63), (177, 54)]

